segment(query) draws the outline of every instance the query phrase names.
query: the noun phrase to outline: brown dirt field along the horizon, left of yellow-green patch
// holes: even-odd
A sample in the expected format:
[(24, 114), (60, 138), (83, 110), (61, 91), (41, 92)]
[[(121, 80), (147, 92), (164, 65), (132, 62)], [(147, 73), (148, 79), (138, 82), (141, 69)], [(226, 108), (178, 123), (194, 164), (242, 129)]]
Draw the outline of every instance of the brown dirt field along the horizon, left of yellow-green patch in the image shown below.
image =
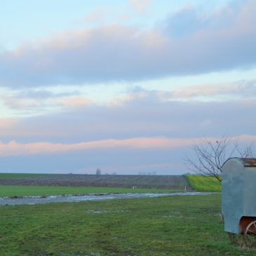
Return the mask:
[(40, 185), (70, 187), (137, 187), (191, 190), (182, 175), (77, 175), (49, 174), (34, 177), (0, 178), (2, 185)]

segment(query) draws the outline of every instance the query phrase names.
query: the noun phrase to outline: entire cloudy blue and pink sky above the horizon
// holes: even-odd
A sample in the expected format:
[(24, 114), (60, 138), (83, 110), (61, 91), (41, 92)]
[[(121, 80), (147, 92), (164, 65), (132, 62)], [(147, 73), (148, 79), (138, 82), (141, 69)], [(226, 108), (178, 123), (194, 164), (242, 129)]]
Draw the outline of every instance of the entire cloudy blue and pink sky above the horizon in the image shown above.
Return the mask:
[(188, 173), (256, 141), (256, 1), (0, 0), (0, 172)]

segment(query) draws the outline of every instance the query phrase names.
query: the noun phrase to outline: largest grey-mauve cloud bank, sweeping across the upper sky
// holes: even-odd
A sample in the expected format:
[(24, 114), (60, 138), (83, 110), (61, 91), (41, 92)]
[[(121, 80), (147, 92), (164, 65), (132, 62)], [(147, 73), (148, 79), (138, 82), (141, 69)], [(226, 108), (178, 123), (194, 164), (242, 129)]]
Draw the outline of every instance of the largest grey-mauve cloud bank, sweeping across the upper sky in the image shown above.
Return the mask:
[[(243, 1), (199, 21), (195, 10), (187, 8), (186, 15), (178, 13), (147, 31), (109, 25), (63, 32), (0, 53), (0, 84), (81, 85), (255, 67), (255, 11), (255, 1)], [(183, 32), (176, 25), (180, 20)]]

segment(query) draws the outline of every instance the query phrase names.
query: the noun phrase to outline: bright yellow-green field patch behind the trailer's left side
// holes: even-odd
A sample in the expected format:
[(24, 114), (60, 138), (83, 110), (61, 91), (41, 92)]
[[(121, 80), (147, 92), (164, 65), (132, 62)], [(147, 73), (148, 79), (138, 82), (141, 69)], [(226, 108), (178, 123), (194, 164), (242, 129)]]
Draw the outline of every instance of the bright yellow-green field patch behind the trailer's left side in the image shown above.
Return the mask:
[(221, 182), (213, 176), (203, 175), (184, 175), (192, 189), (196, 191), (220, 192), (222, 190)]

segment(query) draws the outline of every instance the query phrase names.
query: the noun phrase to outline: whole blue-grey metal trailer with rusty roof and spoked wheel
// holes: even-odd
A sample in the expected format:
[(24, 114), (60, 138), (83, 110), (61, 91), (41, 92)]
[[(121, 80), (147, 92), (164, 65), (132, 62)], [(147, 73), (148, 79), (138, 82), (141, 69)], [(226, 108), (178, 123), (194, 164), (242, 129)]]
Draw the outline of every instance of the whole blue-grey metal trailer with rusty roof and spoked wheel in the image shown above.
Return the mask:
[(256, 159), (231, 158), (223, 164), (222, 215), (231, 242), (256, 248)]

